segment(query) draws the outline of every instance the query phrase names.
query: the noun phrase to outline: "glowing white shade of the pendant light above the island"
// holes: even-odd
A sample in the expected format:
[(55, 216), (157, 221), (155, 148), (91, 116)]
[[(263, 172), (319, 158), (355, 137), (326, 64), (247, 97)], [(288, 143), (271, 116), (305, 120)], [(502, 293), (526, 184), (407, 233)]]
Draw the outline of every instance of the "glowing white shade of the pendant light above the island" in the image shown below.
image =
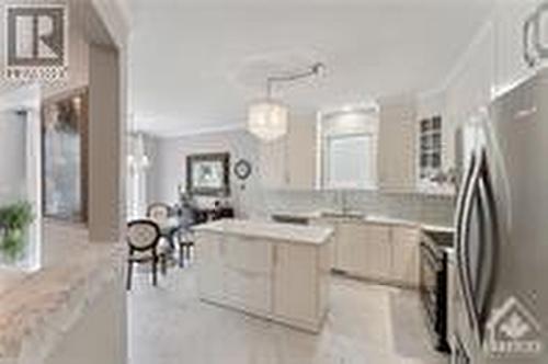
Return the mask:
[(248, 129), (264, 141), (273, 141), (287, 133), (288, 111), (283, 104), (265, 100), (249, 107)]

